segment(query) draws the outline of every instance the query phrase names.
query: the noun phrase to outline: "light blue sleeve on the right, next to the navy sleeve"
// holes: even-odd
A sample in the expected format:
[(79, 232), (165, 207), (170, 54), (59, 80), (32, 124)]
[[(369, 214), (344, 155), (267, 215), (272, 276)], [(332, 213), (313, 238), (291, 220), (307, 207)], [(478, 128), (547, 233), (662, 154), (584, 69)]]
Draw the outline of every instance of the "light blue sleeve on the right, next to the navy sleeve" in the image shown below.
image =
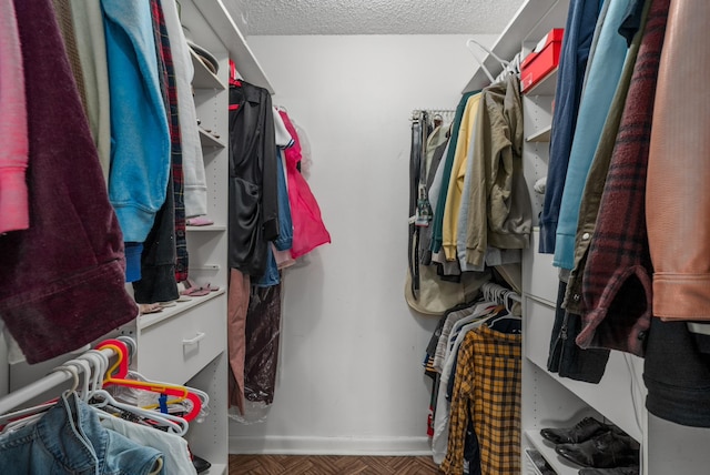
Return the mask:
[(618, 33), (618, 29), (629, 0), (608, 1), (611, 3), (599, 33), (595, 58), (588, 65), (589, 75), (579, 103), (560, 202), (552, 263), (562, 269), (572, 269), (575, 265), (575, 234), (581, 194), (627, 54), (626, 40)]

